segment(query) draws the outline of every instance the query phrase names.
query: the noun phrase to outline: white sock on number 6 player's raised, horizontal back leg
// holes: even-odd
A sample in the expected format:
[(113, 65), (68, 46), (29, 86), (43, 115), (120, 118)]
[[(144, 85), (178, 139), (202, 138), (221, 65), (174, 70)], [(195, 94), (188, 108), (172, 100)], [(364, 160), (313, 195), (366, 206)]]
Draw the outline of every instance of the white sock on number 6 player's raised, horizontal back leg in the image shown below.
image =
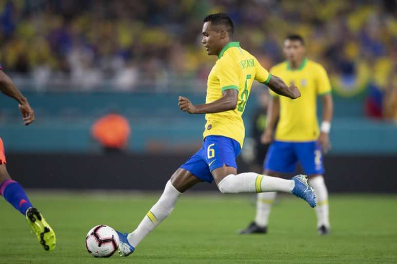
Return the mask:
[(218, 184), (218, 188), (222, 193), (291, 192), (293, 187), (295, 187), (293, 180), (269, 177), (255, 172), (244, 172), (237, 175), (229, 174)]

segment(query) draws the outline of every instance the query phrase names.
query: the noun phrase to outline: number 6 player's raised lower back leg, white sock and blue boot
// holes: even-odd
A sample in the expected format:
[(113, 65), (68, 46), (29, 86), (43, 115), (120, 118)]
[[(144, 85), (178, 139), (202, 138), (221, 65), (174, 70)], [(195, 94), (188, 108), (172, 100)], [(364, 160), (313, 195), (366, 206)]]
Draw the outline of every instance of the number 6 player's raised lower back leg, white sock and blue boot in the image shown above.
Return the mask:
[(222, 193), (292, 192), (295, 196), (305, 200), (310, 207), (315, 207), (316, 204), (314, 190), (308, 185), (305, 175), (296, 175), (292, 180), (284, 180), (254, 172), (244, 172), (237, 175), (229, 174), (217, 185)]

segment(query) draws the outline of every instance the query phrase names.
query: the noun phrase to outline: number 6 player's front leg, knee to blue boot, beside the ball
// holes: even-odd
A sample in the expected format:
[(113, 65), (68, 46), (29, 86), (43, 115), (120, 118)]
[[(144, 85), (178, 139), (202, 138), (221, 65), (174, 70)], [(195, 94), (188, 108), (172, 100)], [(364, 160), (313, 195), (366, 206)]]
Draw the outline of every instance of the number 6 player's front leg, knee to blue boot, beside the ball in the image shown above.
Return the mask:
[(182, 193), (199, 182), (201, 180), (196, 178), (191, 172), (178, 168), (167, 182), (160, 199), (152, 206), (138, 227), (129, 234), (117, 231), (120, 238), (118, 253), (121, 256), (128, 256), (134, 252), (142, 239), (171, 214)]

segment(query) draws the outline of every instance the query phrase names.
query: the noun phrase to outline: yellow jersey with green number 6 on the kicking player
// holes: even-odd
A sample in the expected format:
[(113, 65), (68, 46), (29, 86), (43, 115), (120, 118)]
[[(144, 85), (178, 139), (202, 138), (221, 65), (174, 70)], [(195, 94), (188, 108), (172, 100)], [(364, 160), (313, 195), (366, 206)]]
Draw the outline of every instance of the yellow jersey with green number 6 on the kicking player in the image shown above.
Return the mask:
[(254, 80), (267, 84), (270, 74), (257, 59), (240, 47), (240, 42), (229, 42), (208, 76), (206, 103), (222, 97), (227, 89), (239, 91), (234, 110), (206, 114), (203, 137), (210, 135), (232, 138), (243, 147), (245, 128), (242, 115)]

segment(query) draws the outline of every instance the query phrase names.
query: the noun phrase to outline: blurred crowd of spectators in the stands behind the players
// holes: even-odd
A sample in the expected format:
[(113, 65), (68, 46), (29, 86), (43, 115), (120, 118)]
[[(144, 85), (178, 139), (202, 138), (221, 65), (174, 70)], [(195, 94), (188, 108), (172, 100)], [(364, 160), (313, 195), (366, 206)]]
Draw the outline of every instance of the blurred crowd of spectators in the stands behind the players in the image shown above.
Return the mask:
[(202, 20), (215, 12), (267, 69), (287, 34), (303, 35), (336, 94), (364, 94), (369, 116), (397, 120), (394, 0), (0, 1), (0, 60), (37, 90), (204, 91), (216, 58)]

